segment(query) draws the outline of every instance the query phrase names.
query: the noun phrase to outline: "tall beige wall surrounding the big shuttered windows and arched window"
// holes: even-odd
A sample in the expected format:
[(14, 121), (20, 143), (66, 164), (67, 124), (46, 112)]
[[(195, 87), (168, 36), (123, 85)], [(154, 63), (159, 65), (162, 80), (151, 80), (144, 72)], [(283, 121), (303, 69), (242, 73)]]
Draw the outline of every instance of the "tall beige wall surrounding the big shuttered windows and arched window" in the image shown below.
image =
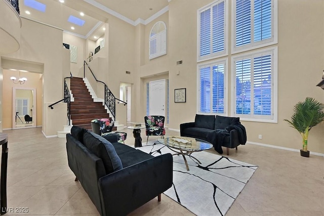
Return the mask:
[[(190, 1), (190, 4), (184, 7), (184, 1), (171, 1), (167, 17), (164, 14), (145, 26), (145, 57), (139, 70), (141, 76), (169, 71), (170, 128), (179, 129), (180, 123), (193, 121), (197, 112), (197, 10), (211, 2)], [(231, 4), (231, 1), (229, 3)], [(323, 1), (278, 1), (278, 44), (272, 46), (278, 47), (278, 122), (242, 121), (247, 128), (249, 142), (293, 149), (302, 147), (300, 135), (283, 119), (290, 118), (293, 106), (306, 97), (324, 102), (323, 91), (315, 86), (320, 81), (324, 68), (323, 4)], [(149, 61), (148, 34), (158, 20), (167, 24), (167, 55)], [(140, 29), (138, 31), (140, 32)], [(231, 55), (228, 56), (229, 64), (230, 57)], [(183, 64), (177, 66), (176, 61), (180, 60)], [(180, 74), (177, 75), (177, 72)], [(228, 75), (230, 76), (230, 70)], [(187, 89), (186, 103), (174, 103), (172, 93), (178, 88)], [(145, 110), (146, 92), (143, 91), (143, 87), (139, 89), (139, 109)], [(230, 90), (228, 94), (230, 97)], [(229, 100), (228, 107), (230, 103)], [(228, 111), (231, 113), (231, 110)], [(137, 117), (141, 119), (143, 111), (137, 113)], [(260, 134), (262, 140), (258, 139)], [(312, 128), (308, 141), (309, 150), (324, 153), (323, 140), (324, 122)]]

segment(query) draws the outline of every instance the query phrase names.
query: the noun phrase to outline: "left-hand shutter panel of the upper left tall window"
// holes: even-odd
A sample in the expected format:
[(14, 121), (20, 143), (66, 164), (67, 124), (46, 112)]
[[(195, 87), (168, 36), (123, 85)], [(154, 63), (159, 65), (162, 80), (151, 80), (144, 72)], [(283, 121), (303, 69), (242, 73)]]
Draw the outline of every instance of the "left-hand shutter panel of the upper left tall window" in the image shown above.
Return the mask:
[(211, 54), (211, 9), (200, 13), (200, 56)]

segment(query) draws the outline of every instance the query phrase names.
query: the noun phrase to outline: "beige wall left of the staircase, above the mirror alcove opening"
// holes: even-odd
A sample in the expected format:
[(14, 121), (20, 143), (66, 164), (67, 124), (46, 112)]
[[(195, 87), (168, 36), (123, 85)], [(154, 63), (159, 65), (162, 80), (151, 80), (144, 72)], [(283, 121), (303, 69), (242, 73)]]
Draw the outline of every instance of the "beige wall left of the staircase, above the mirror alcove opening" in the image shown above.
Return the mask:
[[(13, 60), (44, 64), (41, 119), (42, 130), (46, 136), (56, 135), (57, 131), (61, 131), (66, 124), (66, 116), (57, 116), (58, 110), (46, 112), (50, 109), (48, 103), (55, 103), (63, 98), (62, 35), (60, 29), (22, 18), (20, 49), (3, 56)], [(56, 116), (56, 121), (49, 122), (49, 115)]]

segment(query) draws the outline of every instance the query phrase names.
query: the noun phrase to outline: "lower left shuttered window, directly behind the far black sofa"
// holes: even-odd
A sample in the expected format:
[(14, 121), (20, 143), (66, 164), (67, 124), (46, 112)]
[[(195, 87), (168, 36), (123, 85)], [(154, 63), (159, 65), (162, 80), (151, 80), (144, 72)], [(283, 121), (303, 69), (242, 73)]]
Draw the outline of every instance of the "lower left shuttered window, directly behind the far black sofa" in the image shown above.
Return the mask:
[(199, 66), (199, 112), (225, 113), (225, 60)]

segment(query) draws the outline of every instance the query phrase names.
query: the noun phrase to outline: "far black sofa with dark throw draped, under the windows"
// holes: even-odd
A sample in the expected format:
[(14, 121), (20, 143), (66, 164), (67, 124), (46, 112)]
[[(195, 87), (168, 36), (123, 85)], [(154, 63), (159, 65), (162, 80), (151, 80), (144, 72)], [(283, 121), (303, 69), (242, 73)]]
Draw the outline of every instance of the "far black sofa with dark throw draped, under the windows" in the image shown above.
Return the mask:
[(213, 144), (214, 149), (222, 154), (222, 146), (229, 149), (238, 145), (245, 145), (247, 134), (245, 127), (239, 122), (239, 117), (220, 115), (196, 114), (194, 122), (180, 124), (180, 136), (205, 140)]

